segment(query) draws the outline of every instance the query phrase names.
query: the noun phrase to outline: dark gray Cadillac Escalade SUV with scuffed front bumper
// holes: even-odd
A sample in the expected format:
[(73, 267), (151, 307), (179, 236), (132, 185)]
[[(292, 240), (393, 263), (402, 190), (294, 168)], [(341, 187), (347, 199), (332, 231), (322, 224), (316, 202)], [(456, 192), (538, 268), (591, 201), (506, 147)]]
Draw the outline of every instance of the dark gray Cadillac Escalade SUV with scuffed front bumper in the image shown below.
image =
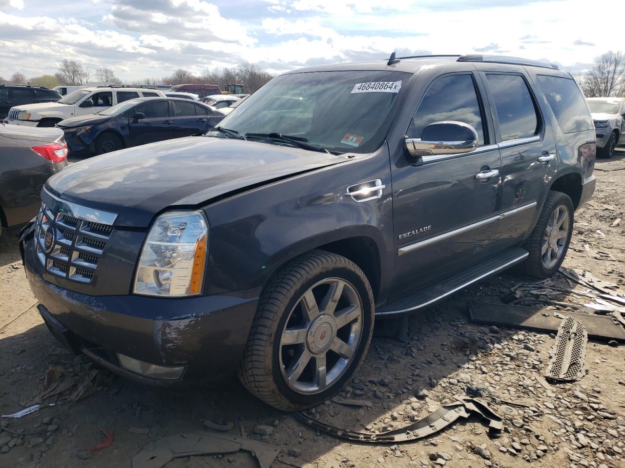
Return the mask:
[(285, 410), (341, 391), (374, 318), (554, 274), (595, 186), (586, 102), (542, 62), (301, 69), (221, 125), (52, 177), (27, 277), (74, 352), (159, 386), (238, 371)]

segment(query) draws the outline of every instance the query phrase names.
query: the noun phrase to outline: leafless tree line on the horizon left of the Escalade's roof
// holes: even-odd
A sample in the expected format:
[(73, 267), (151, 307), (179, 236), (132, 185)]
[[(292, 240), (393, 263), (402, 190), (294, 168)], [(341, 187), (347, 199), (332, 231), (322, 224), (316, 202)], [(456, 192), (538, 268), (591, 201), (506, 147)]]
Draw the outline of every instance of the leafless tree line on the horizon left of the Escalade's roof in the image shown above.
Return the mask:
[(105, 82), (116, 85), (176, 85), (183, 83), (206, 83), (217, 84), (219, 88), (226, 89), (227, 84), (242, 84), (246, 92), (254, 92), (266, 82), (274, 77), (269, 72), (262, 70), (259, 66), (251, 62), (241, 62), (232, 68), (212, 68), (204, 69), (201, 74), (194, 75), (187, 69), (179, 68), (173, 74), (164, 77), (146, 77), (144, 79), (126, 81), (115, 76), (115, 72), (110, 68), (100, 68), (92, 72), (87, 67), (83, 67), (76, 61), (64, 60), (59, 66), (58, 72), (54, 75), (42, 75), (31, 77), (16, 72), (11, 78), (4, 80), (0, 77), (0, 83), (11, 82), (14, 84), (29, 84), (31, 86), (44, 86), (53, 88), (55, 86), (80, 86), (88, 82)]

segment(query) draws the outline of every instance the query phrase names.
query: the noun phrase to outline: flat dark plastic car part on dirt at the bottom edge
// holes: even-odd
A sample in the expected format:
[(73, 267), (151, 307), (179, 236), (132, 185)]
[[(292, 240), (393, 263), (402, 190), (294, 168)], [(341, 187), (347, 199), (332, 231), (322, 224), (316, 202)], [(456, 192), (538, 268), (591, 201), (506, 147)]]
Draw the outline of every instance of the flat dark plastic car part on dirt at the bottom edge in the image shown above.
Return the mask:
[(194, 432), (164, 437), (150, 442), (133, 457), (133, 468), (161, 468), (174, 458), (251, 452), (260, 468), (269, 468), (279, 450), (264, 442), (229, 434)]

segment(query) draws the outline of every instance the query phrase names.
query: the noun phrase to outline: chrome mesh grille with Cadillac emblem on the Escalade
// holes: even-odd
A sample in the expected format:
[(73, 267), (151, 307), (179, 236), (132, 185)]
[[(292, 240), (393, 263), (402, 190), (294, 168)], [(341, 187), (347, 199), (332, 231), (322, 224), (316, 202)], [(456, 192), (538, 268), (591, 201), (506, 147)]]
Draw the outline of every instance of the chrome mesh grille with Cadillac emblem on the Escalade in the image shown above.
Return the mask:
[[(91, 210), (42, 193), (41, 210), (35, 228), (34, 250), (49, 273), (69, 280), (89, 283), (113, 233), (114, 213)], [(46, 242), (47, 237), (47, 242)], [(47, 245), (47, 248), (46, 248)]]

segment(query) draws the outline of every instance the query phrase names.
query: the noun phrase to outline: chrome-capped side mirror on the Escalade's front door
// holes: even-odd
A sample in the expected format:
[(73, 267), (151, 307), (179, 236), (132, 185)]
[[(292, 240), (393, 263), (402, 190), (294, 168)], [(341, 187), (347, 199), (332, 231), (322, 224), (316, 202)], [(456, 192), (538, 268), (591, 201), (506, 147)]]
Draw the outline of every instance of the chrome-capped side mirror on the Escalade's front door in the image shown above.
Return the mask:
[(414, 157), (468, 153), (476, 148), (476, 130), (456, 120), (434, 122), (423, 129), (420, 139), (406, 139), (406, 149)]

